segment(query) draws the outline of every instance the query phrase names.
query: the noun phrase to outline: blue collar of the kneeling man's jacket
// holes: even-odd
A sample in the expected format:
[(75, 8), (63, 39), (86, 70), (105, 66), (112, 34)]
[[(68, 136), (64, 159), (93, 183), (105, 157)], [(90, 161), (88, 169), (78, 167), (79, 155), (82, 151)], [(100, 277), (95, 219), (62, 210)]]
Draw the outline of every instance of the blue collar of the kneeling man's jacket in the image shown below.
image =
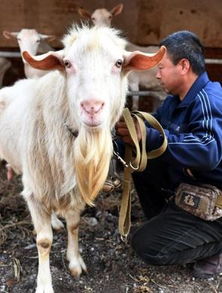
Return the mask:
[[(178, 104), (177, 108), (187, 107), (197, 96), (197, 94), (205, 87), (205, 85), (209, 82), (209, 77), (206, 72), (202, 73), (193, 83), (188, 93), (184, 97), (184, 99)], [(175, 96), (176, 99), (179, 99), (178, 96)]]

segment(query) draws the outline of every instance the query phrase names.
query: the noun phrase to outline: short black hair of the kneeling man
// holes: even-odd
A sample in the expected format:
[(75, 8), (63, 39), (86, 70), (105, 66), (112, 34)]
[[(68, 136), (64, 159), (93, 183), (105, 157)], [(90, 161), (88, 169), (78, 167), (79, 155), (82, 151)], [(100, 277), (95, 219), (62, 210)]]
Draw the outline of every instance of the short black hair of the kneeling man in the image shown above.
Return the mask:
[(189, 60), (193, 72), (197, 75), (205, 71), (203, 46), (194, 33), (189, 31), (175, 32), (162, 40), (160, 45), (167, 48), (173, 64), (176, 65), (181, 59), (185, 58)]

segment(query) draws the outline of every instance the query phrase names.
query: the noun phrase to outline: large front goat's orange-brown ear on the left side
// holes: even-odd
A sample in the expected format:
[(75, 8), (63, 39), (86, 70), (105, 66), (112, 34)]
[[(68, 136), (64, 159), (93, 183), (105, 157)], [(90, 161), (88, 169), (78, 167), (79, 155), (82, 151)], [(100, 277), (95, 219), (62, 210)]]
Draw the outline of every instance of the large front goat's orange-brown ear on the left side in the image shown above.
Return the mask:
[(62, 62), (63, 50), (57, 52), (48, 52), (46, 54), (31, 56), (27, 51), (22, 53), (25, 61), (36, 69), (64, 71), (65, 67)]

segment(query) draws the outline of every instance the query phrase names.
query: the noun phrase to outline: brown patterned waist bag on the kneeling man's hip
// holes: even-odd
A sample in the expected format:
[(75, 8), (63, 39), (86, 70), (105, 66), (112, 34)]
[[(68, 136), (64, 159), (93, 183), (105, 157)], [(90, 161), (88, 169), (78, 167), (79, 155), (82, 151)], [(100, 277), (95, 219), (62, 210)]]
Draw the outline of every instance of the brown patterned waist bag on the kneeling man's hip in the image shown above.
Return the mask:
[(181, 183), (176, 191), (175, 203), (206, 221), (222, 217), (222, 191), (213, 185)]

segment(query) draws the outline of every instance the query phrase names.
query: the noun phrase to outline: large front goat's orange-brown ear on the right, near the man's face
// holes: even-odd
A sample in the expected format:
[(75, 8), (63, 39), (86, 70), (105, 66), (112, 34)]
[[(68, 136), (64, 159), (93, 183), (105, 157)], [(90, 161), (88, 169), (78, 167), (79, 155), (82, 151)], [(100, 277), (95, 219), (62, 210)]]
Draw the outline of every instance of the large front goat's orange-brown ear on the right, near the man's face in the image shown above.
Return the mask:
[(140, 51), (127, 52), (128, 56), (125, 58), (123, 69), (127, 72), (131, 70), (147, 70), (157, 65), (163, 58), (165, 52), (166, 47), (164, 46), (161, 46), (154, 54), (145, 54)]

